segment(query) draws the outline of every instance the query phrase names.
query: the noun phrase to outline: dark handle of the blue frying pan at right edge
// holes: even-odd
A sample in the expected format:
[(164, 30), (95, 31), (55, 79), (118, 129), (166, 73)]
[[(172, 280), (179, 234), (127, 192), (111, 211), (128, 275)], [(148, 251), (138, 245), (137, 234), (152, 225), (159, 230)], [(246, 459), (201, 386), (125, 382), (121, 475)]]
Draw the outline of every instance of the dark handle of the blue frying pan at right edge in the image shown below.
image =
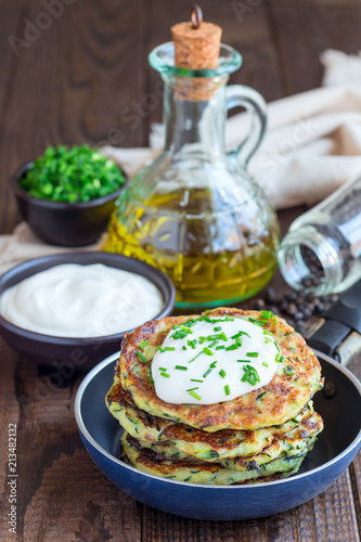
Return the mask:
[(361, 281), (324, 313), (308, 344), (343, 365), (361, 353)]

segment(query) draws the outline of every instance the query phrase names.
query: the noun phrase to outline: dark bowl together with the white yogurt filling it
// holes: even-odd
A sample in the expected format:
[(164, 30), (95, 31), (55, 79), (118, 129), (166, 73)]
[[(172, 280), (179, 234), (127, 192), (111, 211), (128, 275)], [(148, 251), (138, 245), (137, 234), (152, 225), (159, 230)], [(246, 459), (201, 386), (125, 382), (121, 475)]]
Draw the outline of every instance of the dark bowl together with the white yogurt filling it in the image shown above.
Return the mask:
[(89, 370), (125, 333), (169, 315), (176, 291), (162, 271), (109, 253), (28, 260), (0, 278), (0, 334), (20, 353)]

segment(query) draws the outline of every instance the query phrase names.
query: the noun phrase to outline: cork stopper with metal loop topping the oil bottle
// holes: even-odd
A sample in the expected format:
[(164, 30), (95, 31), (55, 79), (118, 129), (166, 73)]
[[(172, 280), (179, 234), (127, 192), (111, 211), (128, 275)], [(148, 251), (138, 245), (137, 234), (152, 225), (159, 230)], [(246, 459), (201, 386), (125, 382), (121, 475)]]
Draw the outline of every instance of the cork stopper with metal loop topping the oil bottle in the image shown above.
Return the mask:
[(193, 5), (191, 21), (171, 27), (176, 66), (189, 69), (216, 68), (221, 35), (221, 27), (204, 23), (201, 8)]

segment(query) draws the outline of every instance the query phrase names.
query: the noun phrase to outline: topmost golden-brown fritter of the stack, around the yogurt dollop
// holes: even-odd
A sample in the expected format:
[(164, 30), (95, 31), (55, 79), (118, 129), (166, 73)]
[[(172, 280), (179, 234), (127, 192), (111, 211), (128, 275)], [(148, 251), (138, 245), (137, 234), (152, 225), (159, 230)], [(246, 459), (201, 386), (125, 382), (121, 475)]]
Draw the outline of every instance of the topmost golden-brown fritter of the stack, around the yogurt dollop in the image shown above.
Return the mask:
[[(209, 318), (231, 315), (257, 319), (257, 311), (220, 308), (209, 312)], [(119, 386), (130, 393), (137, 406), (150, 414), (167, 417), (206, 431), (219, 429), (257, 429), (281, 425), (294, 417), (321, 387), (321, 367), (305, 339), (284, 320), (275, 318), (265, 324), (281, 348), (283, 362), (279, 363), (272, 380), (263, 388), (240, 396), (231, 401), (215, 404), (171, 404), (162, 401), (150, 382), (150, 363), (137, 356), (139, 344), (149, 340), (147, 357), (153, 358), (176, 323), (196, 317), (171, 317), (150, 321), (127, 334), (117, 365)], [(289, 367), (289, 370), (287, 370)], [(288, 374), (293, 373), (293, 374)], [(257, 401), (266, 391), (262, 401)]]

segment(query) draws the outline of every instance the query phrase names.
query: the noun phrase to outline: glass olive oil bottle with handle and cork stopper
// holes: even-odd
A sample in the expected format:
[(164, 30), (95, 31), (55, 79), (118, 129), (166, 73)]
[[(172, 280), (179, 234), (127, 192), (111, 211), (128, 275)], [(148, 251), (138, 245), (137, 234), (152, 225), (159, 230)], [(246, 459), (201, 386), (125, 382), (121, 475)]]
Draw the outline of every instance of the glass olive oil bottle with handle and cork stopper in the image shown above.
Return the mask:
[[(118, 198), (105, 249), (167, 273), (177, 307), (235, 304), (259, 292), (276, 264), (278, 219), (246, 170), (266, 105), (248, 87), (227, 87), (242, 57), (220, 44), (221, 28), (203, 23), (199, 8), (172, 36), (150, 54), (164, 81), (164, 152)], [(250, 129), (227, 153), (227, 112), (236, 106), (249, 112)]]

